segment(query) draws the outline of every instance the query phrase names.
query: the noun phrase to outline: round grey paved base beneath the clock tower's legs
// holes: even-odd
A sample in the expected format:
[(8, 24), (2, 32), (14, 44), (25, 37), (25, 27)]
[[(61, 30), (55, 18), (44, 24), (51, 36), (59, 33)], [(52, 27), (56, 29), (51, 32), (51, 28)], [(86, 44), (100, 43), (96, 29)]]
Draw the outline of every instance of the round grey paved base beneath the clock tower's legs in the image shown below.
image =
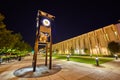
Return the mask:
[(52, 69), (49, 69), (47, 66), (44, 65), (37, 65), (36, 71), (33, 72), (32, 66), (27, 66), (20, 68), (14, 72), (16, 77), (23, 77), (23, 78), (35, 78), (35, 77), (43, 77), (55, 74), (61, 70), (59, 65), (53, 65)]

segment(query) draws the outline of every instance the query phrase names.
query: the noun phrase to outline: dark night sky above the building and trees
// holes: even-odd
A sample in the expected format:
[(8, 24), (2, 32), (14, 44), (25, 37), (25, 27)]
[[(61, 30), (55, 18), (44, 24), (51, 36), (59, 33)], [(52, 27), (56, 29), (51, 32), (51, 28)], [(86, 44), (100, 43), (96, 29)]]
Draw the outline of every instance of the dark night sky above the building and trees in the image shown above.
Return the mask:
[(20, 32), (34, 45), (37, 10), (54, 15), (53, 43), (118, 23), (120, 4), (115, 0), (0, 0), (7, 29)]

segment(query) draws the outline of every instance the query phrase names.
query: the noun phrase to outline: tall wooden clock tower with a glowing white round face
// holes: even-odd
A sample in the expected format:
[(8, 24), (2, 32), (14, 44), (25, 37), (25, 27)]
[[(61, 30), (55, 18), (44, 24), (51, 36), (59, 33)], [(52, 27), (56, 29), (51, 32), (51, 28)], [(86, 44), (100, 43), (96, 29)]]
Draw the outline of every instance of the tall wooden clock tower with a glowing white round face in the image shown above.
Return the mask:
[(33, 72), (36, 71), (37, 63), (37, 53), (39, 51), (39, 46), (46, 47), (46, 56), (45, 56), (45, 66), (48, 64), (48, 48), (50, 49), (49, 54), (49, 69), (52, 68), (52, 35), (51, 35), (51, 22), (54, 20), (55, 16), (50, 15), (46, 12), (38, 10), (37, 13), (37, 23), (36, 23), (36, 39), (34, 45), (34, 55), (33, 55)]

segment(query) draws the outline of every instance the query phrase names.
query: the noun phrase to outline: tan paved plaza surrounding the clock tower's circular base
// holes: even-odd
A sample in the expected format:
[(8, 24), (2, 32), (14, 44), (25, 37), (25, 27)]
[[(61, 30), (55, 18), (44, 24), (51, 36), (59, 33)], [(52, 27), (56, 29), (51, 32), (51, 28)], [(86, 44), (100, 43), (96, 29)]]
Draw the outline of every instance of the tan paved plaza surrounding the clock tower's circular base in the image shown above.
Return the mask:
[[(39, 62), (40, 61), (40, 62)], [(43, 64), (42, 59), (37, 64)], [(61, 66), (55, 74), (37, 77), (16, 77), (13, 73), (25, 66), (31, 66), (32, 58), (0, 65), (0, 80), (120, 80), (120, 59), (100, 65), (100, 67), (72, 61), (53, 60), (53, 64)]]

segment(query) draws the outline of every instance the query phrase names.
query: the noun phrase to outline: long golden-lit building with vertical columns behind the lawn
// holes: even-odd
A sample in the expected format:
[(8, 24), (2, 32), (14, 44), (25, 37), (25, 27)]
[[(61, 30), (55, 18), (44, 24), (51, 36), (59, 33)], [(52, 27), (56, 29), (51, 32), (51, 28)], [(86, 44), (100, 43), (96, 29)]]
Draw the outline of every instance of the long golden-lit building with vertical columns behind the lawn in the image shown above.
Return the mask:
[(58, 54), (110, 55), (107, 49), (111, 41), (120, 41), (120, 23), (73, 37), (53, 45)]

